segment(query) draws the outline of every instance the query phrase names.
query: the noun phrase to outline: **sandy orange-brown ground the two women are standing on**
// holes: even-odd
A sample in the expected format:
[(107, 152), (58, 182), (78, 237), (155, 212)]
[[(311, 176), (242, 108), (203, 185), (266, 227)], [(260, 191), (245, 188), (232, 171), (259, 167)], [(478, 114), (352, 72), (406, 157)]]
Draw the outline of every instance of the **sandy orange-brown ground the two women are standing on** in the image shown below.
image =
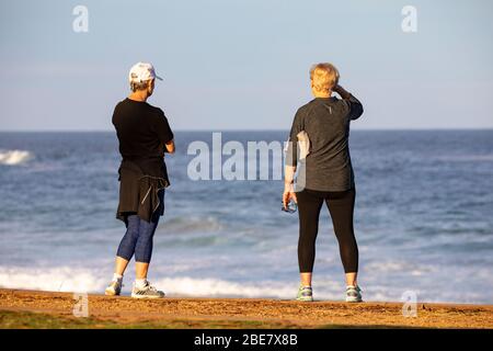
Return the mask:
[[(401, 303), (301, 303), (250, 298), (162, 298), (89, 295), (89, 318), (73, 317), (71, 293), (0, 290), (0, 328), (33, 327), (23, 318), (59, 318), (57, 327), (158, 328), (333, 328), (417, 327), (493, 328), (493, 305), (417, 304), (416, 317), (404, 317)], [(44, 320), (44, 319), (42, 319)], [(34, 328), (49, 327), (43, 321)], [(53, 326), (51, 326), (53, 327)]]

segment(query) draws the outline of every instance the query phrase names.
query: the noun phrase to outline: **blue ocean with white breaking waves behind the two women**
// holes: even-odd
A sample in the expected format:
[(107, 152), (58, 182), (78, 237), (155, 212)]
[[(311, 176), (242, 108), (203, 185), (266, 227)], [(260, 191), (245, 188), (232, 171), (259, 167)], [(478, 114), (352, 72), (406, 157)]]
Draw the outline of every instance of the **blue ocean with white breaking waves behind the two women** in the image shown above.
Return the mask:
[[(222, 132), (241, 145), (286, 137)], [(194, 181), (197, 140), (213, 132), (177, 132), (165, 158), (149, 280), (169, 296), (294, 298), (298, 220), (280, 211), (283, 181)], [(364, 298), (492, 304), (493, 131), (352, 131), (349, 145)], [(113, 132), (0, 133), (0, 287), (104, 291), (125, 233), (117, 146)], [(133, 275), (131, 264), (125, 294)], [(341, 301), (344, 287), (324, 208), (314, 297)]]

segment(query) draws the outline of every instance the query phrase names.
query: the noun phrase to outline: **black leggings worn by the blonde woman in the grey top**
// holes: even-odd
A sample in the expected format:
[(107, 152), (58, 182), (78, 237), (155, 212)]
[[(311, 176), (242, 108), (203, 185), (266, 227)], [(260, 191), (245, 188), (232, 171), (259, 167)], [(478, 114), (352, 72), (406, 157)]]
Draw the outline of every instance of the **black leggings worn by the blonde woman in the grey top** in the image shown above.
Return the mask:
[(325, 201), (339, 241), (341, 260), (346, 273), (358, 271), (358, 246), (354, 237), (353, 212), (356, 190), (325, 192), (303, 190), (296, 193), (299, 211), (298, 263), (301, 273), (311, 273), (316, 256), (319, 216)]

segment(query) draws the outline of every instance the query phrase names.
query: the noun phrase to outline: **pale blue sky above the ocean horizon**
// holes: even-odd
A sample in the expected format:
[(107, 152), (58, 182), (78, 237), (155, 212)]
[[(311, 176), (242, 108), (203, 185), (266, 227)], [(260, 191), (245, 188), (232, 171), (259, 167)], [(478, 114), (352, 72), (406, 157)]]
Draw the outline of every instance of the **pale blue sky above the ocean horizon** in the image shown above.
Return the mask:
[[(72, 9), (89, 10), (89, 32)], [(417, 9), (403, 33), (401, 10)], [(492, 128), (492, 1), (1, 1), (0, 131), (112, 131), (127, 73), (174, 129), (287, 129), (331, 61), (365, 105), (353, 128)]]

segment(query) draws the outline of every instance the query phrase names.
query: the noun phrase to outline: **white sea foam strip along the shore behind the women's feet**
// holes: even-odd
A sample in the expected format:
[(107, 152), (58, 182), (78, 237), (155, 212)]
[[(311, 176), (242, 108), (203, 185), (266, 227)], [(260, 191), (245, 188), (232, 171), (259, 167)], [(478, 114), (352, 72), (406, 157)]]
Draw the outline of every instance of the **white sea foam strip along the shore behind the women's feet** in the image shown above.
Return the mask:
[[(415, 275), (415, 274), (412, 274)], [(481, 275), (480, 275), (481, 276)], [(421, 280), (424, 276), (420, 276)], [(23, 288), (54, 292), (87, 292), (101, 294), (111, 280), (110, 272), (99, 269), (83, 269), (73, 267), (60, 268), (23, 268), (0, 267), (1, 288)], [(124, 295), (130, 294), (133, 274), (124, 280)], [(163, 290), (168, 296), (191, 297), (240, 297), (240, 298), (278, 298), (293, 299), (298, 290), (296, 278), (286, 281), (259, 281), (259, 282), (232, 282), (217, 278), (174, 276), (163, 278), (152, 275), (151, 282), (158, 288)], [(454, 283), (454, 282), (452, 282)], [(459, 283), (455, 283), (460, 286)], [(444, 291), (439, 295), (428, 295), (432, 282), (425, 282), (424, 287), (416, 285), (414, 281), (401, 282), (393, 285), (379, 285), (374, 278), (367, 276), (364, 281), (364, 297), (367, 301), (400, 301), (404, 291), (419, 293), (420, 299), (427, 302), (465, 302), (481, 303), (484, 296), (478, 292), (465, 292), (461, 290)], [(488, 285), (488, 283), (486, 283)], [(319, 301), (342, 301), (344, 287), (342, 281), (319, 278), (314, 282), (314, 297)]]

